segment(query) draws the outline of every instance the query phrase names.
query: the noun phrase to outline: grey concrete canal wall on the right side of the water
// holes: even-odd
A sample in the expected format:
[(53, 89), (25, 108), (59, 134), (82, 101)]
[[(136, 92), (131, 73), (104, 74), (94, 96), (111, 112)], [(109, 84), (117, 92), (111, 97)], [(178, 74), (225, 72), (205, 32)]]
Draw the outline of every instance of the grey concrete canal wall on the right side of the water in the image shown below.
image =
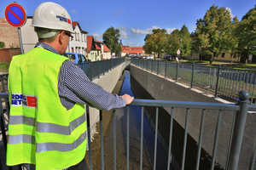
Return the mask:
[[(191, 89), (181, 83), (167, 80), (164, 77), (155, 75), (154, 73), (144, 71), (134, 65), (131, 65), (131, 76), (145, 88), (154, 99), (176, 100), (176, 101), (195, 101), (195, 102), (211, 102), (211, 103), (228, 103), (223, 99), (214, 99), (214, 96), (206, 94), (196, 89)], [(218, 110), (218, 108), (216, 108)], [(170, 114), (170, 108), (166, 109)], [(189, 110), (189, 135), (198, 141), (201, 127), (201, 110)], [(221, 129), (218, 136), (218, 150), (216, 161), (225, 167), (228, 156), (230, 134), (235, 111), (223, 111), (221, 116)], [(174, 119), (184, 128), (186, 111), (177, 108), (174, 111)], [(212, 155), (215, 129), (218, 120), (218, 111), (207, 110), (205, 116), (205, 124), (203, 131), (202, 147)], [(253, 141), (255, 138), (256, 116), (248, 113), (247, 125), (243, 144), (241, 147), (241, 156), (238, 169), (248, 169), (251, 161)], [(182, 141), (183, 142), (183, 141)], [(168, 144), (168, 141), (166, 142)], [(182, 152), (182, 150), (181, 150)]]

